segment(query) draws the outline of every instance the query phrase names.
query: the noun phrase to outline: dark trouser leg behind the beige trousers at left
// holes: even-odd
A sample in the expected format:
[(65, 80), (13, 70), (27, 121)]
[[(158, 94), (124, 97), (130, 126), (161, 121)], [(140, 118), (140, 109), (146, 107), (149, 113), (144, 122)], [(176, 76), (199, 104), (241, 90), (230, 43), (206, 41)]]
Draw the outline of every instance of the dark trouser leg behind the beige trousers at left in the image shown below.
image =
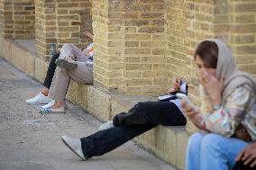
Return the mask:
[(54, 54), (53, 57), (50, 59), (50, 64), (47, 70), (47, 74), (45, 76), (43, 86), (47, 87), (50, 89), (51, 81), (54, 76), (55, 69), (57, 65), (55, 64), (55, 61), (59, 58), (59, 53)]

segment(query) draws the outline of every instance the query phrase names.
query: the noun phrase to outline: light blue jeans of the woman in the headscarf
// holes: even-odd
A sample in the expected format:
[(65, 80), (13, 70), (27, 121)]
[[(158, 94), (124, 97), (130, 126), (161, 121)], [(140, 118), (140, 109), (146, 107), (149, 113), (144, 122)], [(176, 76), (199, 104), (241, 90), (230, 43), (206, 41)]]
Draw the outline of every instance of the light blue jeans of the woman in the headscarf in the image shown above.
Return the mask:
[(186, 170), (228, 170), (248, 143), (215, 133), (197, 132), (187, 143)]

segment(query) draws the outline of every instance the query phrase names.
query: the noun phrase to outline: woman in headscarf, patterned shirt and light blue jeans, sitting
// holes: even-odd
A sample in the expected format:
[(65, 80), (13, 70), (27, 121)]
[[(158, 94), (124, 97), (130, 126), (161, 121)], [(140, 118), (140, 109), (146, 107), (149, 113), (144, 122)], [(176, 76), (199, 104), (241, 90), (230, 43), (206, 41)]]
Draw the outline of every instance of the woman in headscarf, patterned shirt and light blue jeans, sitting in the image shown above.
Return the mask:
[(235, 157), (255, 166), (241, 151), (256, 139), (254, 77), (238, 70), (221, 40), (199, 43), (195, 60), (201, 109), (182, 102), (182, 110), (201, 131), (188, 139), (185, 169), (232, 169)]

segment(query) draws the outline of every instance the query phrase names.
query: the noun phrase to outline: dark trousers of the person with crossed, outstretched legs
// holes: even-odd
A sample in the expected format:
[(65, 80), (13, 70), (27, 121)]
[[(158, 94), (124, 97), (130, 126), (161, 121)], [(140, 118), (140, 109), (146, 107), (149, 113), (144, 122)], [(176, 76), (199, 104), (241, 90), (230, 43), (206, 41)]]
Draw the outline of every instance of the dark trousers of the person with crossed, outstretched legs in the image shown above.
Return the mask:
[(87, 158), (102, 156), (157, 125), (180, 126), (186, 125), (186, 122), (174, 103), (137, 103), (129, 112), (114, 116), (114, 128), (82, 138), (82, 150)]

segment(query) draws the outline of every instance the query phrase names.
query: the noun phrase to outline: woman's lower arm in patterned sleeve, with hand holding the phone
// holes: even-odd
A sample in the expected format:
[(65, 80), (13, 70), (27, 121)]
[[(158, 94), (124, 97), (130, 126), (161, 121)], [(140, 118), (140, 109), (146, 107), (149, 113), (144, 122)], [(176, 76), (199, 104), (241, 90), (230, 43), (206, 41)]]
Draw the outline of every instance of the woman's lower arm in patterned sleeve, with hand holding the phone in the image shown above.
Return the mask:
[(182, 103), (185, 115), (201, 130), (208, 130), (226, 137), (231, 137), (244, 117), (253, 94), (250, 86), (243, 85), (235, 89), (227, 98), (226, 103), (218, 110), (201, 115), (197, 108)]

